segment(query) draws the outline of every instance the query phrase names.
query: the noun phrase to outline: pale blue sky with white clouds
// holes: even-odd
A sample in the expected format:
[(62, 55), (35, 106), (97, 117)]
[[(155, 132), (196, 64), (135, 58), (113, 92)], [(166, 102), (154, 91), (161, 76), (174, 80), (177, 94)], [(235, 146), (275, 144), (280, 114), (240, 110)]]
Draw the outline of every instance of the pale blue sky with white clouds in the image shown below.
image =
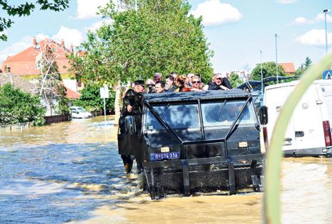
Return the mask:
[[(13, 2), (13, 1), (12, 1)], [(16, 2), (16, 1), (15, 1)], [(87, 29), (94, 30), (101, 18), (96, 6), (107, 0), (71, 0), (60, 13), (35, 10), (32, 16), (14, 18), (0, 42), (0, 63), (9, 55), (32, 45), (32, 38), (45, 37), (65, 45), (79, 45)], [(203, 16), (204, 33), (214, 50), (214, 72), (253, 69), (262, 61), (275, 61), (275, 33), (278, 62), (299, 67), (306, 57), (317, 62), (326, 54), (323, 9), (332, 9), (328, 0), (190, 0), (194, 16)], [(109, 21), (106, 21), (109, 22)], [(332, 13), (327, 16), (328, 45), (332, 50)]]

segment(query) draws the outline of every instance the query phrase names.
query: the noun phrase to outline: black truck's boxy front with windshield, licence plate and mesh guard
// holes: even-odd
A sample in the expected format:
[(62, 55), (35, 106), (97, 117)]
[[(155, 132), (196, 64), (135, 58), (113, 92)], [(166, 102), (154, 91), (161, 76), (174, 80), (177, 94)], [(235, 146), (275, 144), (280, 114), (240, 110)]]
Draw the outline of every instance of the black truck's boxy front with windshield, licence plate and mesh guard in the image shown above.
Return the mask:
[(152, 198), (260, 190), (260, 122), (246, 91), (144, 94), (138, 135)]

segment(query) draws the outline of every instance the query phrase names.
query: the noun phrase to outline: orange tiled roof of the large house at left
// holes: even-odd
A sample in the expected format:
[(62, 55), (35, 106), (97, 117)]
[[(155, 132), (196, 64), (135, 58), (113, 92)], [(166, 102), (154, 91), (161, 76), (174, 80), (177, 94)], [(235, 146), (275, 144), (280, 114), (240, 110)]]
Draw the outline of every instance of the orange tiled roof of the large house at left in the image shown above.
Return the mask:
[[(60, 74), (67, 74), (70, 68), (69, 62), (66, 58), (67, 54), (70, 54), (65, 45), (56, 43), (54, 40), (41, 40), (37, 45), (32, 45), (16, 55), (7, 57), (4, 62), (2, 62), (0, 69), (6, 71), (5, 67), (10, 67), (10, 72), (18, 75), (28, 75), (28, 74), (40, 74), (40, 69), (35, 69), (36, 57), (45, 49), (45, 45), (48, 42), (50, 47), (55, 50), (57, 55), (57, 67), (59, 68)], [(64, 68), (64, 66), (66, 68)]]

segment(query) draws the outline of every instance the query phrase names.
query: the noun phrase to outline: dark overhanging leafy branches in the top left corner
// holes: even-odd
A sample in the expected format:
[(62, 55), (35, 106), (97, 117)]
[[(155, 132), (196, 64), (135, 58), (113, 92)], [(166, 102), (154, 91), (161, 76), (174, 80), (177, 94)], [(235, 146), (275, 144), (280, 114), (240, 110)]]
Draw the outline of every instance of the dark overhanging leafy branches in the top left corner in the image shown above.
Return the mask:
[(30, 16), (36, 6), (40, 6), (40, 10), (50, 9), (52, 11), (63, 11), (67, 9), (69, 1), (70, 0), (35, 0), (34, 3), (26, 1), (17, 6), (13, 6), (8, 4), (6, 0), (0, 0), (0, 8), (4, 11), (0, 16), (0, 40), (7, 40), (7, 36), (2, 32), (8, 30), (13, 24), (10, 18), (3, 16), (4, 14), (7, 16)]

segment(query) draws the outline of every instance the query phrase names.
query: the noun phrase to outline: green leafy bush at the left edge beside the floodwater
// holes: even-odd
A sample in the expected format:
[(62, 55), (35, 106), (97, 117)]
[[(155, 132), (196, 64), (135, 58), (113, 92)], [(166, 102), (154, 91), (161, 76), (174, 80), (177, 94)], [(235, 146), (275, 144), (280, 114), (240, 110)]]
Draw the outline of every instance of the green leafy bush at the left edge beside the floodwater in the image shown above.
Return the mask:
[(31, 96), (11, 84), (0, 86), (0, 125), (33, 121), (34, 125), (43, 125), (45, 108), (38, 96)]

